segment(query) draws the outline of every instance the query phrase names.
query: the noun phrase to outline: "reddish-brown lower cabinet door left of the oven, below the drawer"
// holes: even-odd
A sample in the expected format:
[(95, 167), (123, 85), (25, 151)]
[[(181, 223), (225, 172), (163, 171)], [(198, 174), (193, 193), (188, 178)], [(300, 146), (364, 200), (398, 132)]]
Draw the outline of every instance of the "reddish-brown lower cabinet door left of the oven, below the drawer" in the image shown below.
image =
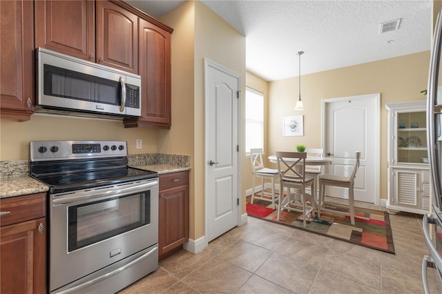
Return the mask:
[(46, 293), (46, 219), (0, 228), (0, 292)]

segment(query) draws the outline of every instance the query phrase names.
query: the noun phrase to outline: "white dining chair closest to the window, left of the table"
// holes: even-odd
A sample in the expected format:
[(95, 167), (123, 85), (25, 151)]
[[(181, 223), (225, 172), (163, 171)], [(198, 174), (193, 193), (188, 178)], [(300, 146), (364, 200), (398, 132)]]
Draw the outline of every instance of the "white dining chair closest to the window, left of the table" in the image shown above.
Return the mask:
[[(250, 161), (251, 161), (251, 173), (253, 174), (252, 186), (251, 186), (251, 200), (250, 203), (253, 204), (253, 199), (261, 199), (271, 202), (271, 207), (275, 208), (275, 179), (278, 178), (278, 170), (273, 168), (265, 168), (262, 161), (262, 148), (251, 148), (250, 149)], [(255, 195), (255, 182), (256, 178), (261, 179), (261, 196)], [(265, 179), (271, 181), (271, 193), (265, 192)], [(267, 196), (267, 197), (266, 197)], [(270, 197), (270, 198), (269, 198)]]

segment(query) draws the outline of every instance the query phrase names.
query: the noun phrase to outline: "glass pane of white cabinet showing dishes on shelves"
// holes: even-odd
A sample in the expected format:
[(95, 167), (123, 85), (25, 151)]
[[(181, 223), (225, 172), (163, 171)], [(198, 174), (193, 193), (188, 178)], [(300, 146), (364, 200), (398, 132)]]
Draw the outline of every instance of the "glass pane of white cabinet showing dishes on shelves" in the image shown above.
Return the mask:
[(402, 112), (397, 118), (397, 162), (427, 163), (425, 111)]

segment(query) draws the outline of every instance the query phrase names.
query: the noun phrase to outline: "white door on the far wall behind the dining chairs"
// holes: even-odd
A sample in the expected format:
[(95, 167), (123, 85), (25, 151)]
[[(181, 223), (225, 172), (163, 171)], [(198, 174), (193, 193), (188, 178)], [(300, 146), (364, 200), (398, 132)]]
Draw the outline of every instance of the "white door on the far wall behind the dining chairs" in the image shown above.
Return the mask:
[[(379, 102), (380, 94), (323, 100), (324, 154), (333, 157), (325, 173), (349, 175), (356, 151), (361, 164), (356, 174), (354, 199), (379, 202)], [(348, 199), (348, 189), (327, 187), (327, 196)]]

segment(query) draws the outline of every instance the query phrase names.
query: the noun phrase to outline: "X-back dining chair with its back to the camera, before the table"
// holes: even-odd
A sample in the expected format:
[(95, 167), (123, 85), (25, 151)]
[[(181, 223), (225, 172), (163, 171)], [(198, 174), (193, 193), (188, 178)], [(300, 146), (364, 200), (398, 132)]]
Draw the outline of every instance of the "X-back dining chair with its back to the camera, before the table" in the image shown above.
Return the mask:
[[(305, 152), (276, 152), (280, 181), (279, 201), (277, 204), (278, 220), (280, 219), (281, 210), (294, 210), (302, 213), (304, 226), (307, 224), (307, 215), (310, 215), (316, 207), (316, 195), (313, 188), (314, 178), (305, 174), (306, 157), (307, 153)], [(305, 188), (307, 187), (311, 187), (314, 195), (305, 193)], [(285, 188), (287, 188), (286, 197), (284, 197)], [(291, 188), (295, 189), (293, 194), (291, 193)], [(295, 199), (296, 195), (299, 195), (299, 199)]]

